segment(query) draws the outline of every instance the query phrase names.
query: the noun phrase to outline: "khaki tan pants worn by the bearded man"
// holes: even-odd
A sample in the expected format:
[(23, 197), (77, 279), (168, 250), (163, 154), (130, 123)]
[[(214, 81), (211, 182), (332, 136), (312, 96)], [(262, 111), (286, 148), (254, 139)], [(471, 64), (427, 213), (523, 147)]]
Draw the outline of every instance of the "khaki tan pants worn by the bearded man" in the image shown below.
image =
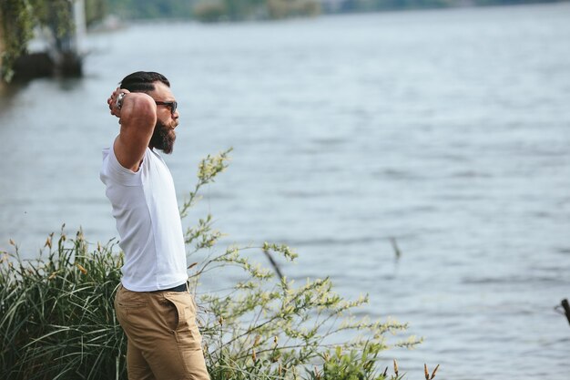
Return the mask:
[(209, 380), (190, 293), (120, 285), (115, 310), (127, 334), (129, 380)]

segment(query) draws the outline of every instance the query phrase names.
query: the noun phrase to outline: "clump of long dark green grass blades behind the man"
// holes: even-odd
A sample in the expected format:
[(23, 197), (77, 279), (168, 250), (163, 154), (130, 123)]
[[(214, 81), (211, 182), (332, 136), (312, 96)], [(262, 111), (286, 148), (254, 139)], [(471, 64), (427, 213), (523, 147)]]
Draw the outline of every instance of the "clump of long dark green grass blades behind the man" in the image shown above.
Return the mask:
[(125, 374), (126, 340), (113, 298), (122, 257), (112, 242), (88, 252), (83, 233), (46, 240), (24, 261), (17, 246), (0, 265), (0, 377), (112, 379)]

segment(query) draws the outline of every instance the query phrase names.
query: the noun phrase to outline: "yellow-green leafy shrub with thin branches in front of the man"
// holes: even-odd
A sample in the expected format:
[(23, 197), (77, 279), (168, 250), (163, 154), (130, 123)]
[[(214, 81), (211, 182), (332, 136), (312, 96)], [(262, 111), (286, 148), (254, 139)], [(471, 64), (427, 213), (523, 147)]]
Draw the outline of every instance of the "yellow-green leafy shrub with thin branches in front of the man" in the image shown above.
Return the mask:
[[(227, 168), (229, 151), (204, 159), (198, 169), (198, 184), (182, 207), (188, 209), (198, 200), (202, 186)], [(188, 229), (186, 241), (194, 245), (193, 252), (209, 249), (207, 260), (193, 267), (192, 280), (198, 283), (206, 272), (237, 267), (242, 280), (227, 293), (207, 293), (199, 303), (207, 311), (202, 334), (207, 344), (207, 361), (213, 378), (254, 378), (272, 375), (297, 378), (305, 365), (319, 364), (331, 347), (354, 350), (372, 358), (389, 347), (384, 334), (405, 330), (405, 324), (395, 321), (356, 319), (351, 311), (368, 297), (344, 300), (332, 291), (328, 278), (308, 280), (297, 286), (280, 274), (275, 262), (294, 262), (297, 253), (286, 245), (264, 242), (260, 246), (230, 246), (224, 252), (211, 250), (221, 236), (213, 228), (211, 215), (198, 221), (198, 227)], [(249, 252), (264, 252), (273, 271), (249, 261)], [(276, 273), (278, 275), (276, 275)], [(341, 336), (349, 332), (360, 334), (349, 342)], [(419, 340), (411, 337), (392, 345), (412, 346)], [(361, 354), (358, 354), (359, 356)]]

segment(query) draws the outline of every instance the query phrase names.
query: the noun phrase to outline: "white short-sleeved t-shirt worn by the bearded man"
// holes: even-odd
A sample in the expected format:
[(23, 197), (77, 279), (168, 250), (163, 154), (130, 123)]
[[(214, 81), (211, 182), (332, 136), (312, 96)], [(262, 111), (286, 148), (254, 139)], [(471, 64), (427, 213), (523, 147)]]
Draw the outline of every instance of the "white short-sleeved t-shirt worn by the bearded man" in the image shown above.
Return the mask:
[(137, 172), (123, 168), (114, 149), (103, 149), (100, 178), (113, 205), (125, 252), (123, 286), (152, 292), (188, 280), (186, 249), (170, 170), (148, 149)]

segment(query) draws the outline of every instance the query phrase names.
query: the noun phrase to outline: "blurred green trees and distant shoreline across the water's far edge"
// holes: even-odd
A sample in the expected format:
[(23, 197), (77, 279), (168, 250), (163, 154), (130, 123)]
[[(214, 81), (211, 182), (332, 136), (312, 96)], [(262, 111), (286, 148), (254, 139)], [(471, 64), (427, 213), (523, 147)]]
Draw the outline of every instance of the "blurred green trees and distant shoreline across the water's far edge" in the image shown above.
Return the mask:
[[(553, 3), (568, 0), (2, 0), (0, 1), (0, 82), (15, 73), (34, 77), (80, 77), (74, 15), (87, 27), (114, 29), (119, 20), (182, 19), (201, 22), (274, 20), (287, 17), (380, 12), (456, 6)], [(80, 5), (85, 5), (82, 11)], [(48, 31), (50, 52), (27, 54), (39, 28)], [(19, 63), (19, 65), (18, 65)]]

